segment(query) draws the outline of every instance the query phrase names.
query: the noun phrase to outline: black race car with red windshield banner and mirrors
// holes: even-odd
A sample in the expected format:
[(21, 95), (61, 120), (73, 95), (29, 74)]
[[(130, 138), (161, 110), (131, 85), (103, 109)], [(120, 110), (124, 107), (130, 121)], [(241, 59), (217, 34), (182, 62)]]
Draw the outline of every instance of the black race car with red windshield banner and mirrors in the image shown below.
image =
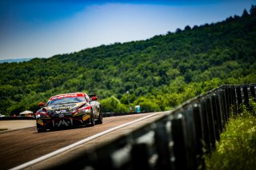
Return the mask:
[(101, 105), (96, 95), (66, 93), (50, 97), (35, 114), (38, 132), (46, 129), (102, 124)]

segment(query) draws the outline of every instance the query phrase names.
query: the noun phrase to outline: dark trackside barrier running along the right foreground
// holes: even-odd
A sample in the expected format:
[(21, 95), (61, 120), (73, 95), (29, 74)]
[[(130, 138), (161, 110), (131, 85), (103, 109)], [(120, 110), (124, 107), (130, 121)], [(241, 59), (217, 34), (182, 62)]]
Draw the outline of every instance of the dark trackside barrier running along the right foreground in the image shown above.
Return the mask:
[(255, 99), (255, 84), (222, 85), (186, 101), (166, 117), (119, 137), (91, 152), (52, 169), (205, 169), (203, 154), (216, 148), (216, 140), (230, 118), (230, 107)]

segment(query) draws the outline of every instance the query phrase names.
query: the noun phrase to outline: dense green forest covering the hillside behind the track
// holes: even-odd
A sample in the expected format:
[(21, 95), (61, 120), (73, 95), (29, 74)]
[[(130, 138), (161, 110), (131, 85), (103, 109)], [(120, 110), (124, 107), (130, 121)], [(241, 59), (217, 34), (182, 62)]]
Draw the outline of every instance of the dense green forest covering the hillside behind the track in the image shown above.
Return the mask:
[(39, 101), (78, 91), (96, 93), (103, 112), (128, 112), (128, 99), (159, 111), (218, 85), (256, 82), (255, 8), (145, 41), (0, 64), (0, 112), (35, 111)]

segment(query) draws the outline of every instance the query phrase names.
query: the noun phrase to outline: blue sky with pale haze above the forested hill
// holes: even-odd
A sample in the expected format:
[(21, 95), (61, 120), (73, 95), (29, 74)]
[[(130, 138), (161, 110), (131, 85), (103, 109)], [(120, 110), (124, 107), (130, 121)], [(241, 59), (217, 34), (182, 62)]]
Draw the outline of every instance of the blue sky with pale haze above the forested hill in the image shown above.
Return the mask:
[(0, 0), (0, 60), (52, 57), (221, 22), (256, 0)]

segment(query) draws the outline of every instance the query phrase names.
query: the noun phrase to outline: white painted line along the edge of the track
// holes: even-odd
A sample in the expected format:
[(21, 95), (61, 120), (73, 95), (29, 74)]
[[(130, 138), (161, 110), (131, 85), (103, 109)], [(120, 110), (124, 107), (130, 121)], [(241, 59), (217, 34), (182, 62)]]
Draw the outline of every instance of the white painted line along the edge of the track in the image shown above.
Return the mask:
[(86, 142), (88, 142), (90, 140), (94, 140), (94, 139), (96, 139), (96, 138), (98, 138), (100, 136), (106, 135), (107, 133), (113, 132), (113, 131), (117, 130), (118, 128), (123, 128), (125, 126), (132, 125), (132, 124), (134, 124), (134, 123), (136, 123), (138, 121), (142, 121), (144, 119), (147, 119), (147, 118), (150, 118), (150, 117), (154, 117), (157, 114), (159, 114), (159, 113), (154, 113), (154, 114), (151, 114), (149, 116), (142, 117), (142, 118), (140, 118), (138, 120), (130, 121), (130, 122), (126, 123), (126, 124), (119, 125), (119, 126), (114, 127), (114, 128), (110, 128), (110, 129), (108, 129), (108, 130), (106, 130), (104, 132), (100, 132), (100, 133), (98, 133), (98, 134), (96, 134), (94, 136), (87, 137), (86, 139), (80, 140), (80, 141), (78, 141), (78, 142), (76, 142), (74, 144), (70, 144), (70, 145), (68, 145), (68, 146), (66, 146), (64, 148), (60, 148), (57, 151), (50, 152), (49, 154), (46, 154), (45, 156), (41, 156), (41, 157), (38, 157), (35, 160), (30, 160), (29, 162), (26, 162), (25, 164), (18, 165), (17, 167), (11, 168), (10, 170), (27, 168), (27, 167), (29, 167), (29, 166), (31, 166), (33, 164), (37, 164), (37, 163), (41, 162), (42, 160), (49, 159), (50, 157), (56, 156), (56, 155), (58, 155), (58, 154), (60, 154), (62, 152), (66, 152), (67, 150), (69, 150), (71, 148), (75, 148), (75, 147), (77, 147), (80, 144), (84, 144), (84, 143), (86, 143)]

